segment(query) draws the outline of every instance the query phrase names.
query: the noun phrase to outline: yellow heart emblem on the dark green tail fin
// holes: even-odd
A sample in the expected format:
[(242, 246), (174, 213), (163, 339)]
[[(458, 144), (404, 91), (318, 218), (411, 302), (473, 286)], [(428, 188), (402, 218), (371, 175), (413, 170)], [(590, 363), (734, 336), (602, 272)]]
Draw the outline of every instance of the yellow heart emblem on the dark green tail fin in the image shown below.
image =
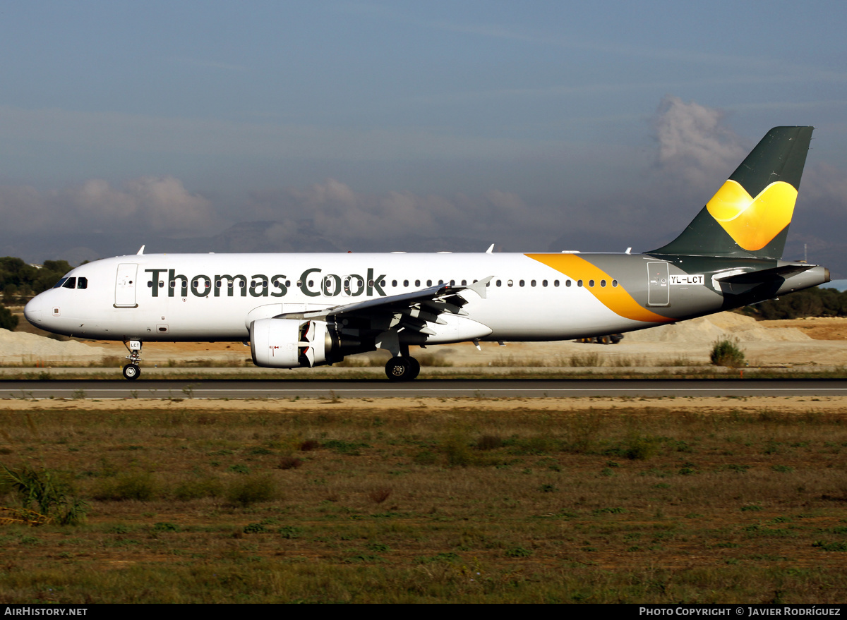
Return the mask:
[(797, 190), (785, 181), (768, 185), (754, 198), (738, 182), (728, 180), (706, 208), (739, 246), (755, 252), (791, 223), (794, 202)]

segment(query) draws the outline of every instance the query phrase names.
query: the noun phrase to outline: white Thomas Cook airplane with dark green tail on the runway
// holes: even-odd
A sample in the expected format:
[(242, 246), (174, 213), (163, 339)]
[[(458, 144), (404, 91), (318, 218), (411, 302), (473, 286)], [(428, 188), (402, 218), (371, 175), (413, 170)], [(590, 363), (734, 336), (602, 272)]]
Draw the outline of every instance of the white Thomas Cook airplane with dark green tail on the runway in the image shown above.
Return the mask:
[(775, 127), (676, 239), (623, 254), (145, 254), (86, 263), (34, 297), (47, 331), (123, 340), (126, 379), (157, 341), (249, 342), (268, 368), (384, 349), (415, 379), (409, 346), (573, 340), (761, 302), (829, 281), (783, 261), (812, 127)]

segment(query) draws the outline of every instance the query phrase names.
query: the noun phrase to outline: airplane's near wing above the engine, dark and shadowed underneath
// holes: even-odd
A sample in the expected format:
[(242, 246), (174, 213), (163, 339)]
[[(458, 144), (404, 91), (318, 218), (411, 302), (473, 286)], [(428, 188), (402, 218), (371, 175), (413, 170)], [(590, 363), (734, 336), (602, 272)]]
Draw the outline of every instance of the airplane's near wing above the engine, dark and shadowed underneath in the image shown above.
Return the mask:
[(444, 314), (467, 316), (462, 307), (468, 303), (468, 291), (484, 298), (491, 278), (478, 280), (470, 285), (435, 285), (419, 291), (368, 299), (364, 302), (347, 303), (340, 306), (302, 313), (284, 313), (274, 318), (301, 318), (342, 323), (342, 333), (359, 335), (365, 331), (408, 329), (422, 335), (434, 335), (428, 323), (446, 324)]

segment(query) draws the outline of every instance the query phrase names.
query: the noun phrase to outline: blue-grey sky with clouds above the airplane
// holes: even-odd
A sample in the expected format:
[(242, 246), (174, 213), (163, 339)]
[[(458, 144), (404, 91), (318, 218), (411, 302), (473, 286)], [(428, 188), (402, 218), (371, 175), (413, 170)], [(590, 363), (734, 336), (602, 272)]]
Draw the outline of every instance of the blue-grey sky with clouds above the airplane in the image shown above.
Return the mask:
[(772, 126), (815, 125), (786, 257), (847, 277), (845, 18), (6, 0), (0, 256), (220, 251), (236, 229), (280, 252), (649, 250)]

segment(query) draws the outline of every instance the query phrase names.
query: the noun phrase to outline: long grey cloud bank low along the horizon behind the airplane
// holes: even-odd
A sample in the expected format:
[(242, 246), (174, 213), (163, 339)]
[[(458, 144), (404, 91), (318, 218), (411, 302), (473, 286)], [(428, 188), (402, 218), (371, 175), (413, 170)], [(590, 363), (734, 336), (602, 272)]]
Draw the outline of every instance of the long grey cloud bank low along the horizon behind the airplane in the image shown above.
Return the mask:
[[(664, 97), (646, 126), (654, 148), (631, 163), (641, 178), (632, 174), (627, 184), (597, 183), (584, 199), (567, 189), (536, 199), (495, 187), (449, 196), (372, 193), (329, 178), (213, 204), (164, 176), (122, 185), (93, 179), (58, 191), (0, 187), (0, 218), (5, 230), (28, 234), (33, 242), (46, 232), (69, 239), (99, 232), (120, 235), (126, 245), (131, 231), (133, 241), (151, 243), (155, 237), (163, 250), (168, 238), (198, 237), (192, 247), (208, 251), (208, 237), (236, 224), (227, 232), (230, 251), (467, 250), (477, 241), (480, 249), (495, 242), (508, 251), (619, 252), (627, 246), (643, 251), (678, 235), (751, 146), (721, 110), (678, 97)], [(847, 211), (844, 179), (831, 166), (807, 166), (792, 239), (814, 233), (840, 243), (844, 232), (838, 223)], [(416, 243), (422, 238), (438, 241)]]

